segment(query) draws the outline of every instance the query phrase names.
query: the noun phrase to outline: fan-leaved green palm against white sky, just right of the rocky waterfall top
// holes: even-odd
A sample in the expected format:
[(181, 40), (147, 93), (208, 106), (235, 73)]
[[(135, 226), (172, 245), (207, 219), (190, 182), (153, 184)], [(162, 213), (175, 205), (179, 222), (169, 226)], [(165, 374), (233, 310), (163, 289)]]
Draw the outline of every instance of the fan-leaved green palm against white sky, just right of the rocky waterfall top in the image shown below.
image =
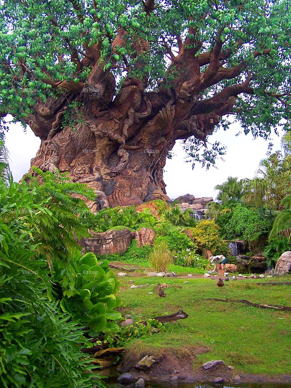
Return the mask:
[(230, 201), (244, 201), (244, 179), (238, 180), (237, 177), (228, 177), (227, 181), (221, 185), (216, 185), (215, 190), (219, 190), (217, 201), (222, 205), (228, 204)]

